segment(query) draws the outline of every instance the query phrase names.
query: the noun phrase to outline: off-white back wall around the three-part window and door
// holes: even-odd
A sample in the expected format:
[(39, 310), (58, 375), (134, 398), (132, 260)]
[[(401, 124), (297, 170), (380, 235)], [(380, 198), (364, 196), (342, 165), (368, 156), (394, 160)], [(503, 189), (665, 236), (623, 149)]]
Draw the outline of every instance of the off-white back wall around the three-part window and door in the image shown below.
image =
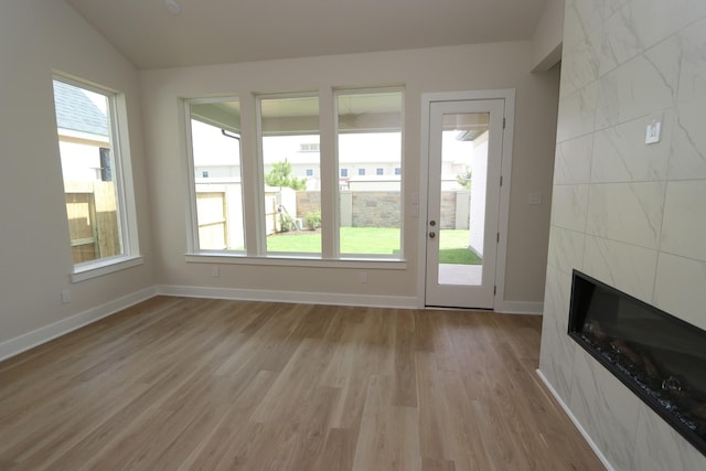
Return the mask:
[[(227, 265), (221, 267), (220, 278), (213, 278), (207, 265), (185, 263), (185, 192), (182, 185), (186, 179), (181, 97), (237, 95), (245, 116), (254, 110), (253, 93), (257, 92), (330, 90), (333, 86), (404, 83), (404, 186), (409, 202), (410, 195), (419, 191), (420, 169), (426, 168), (419, 161), (421, 94), (516, 88), (515, 168), (512, 171), (505, 299), (542, 302), (548, 197), (543, 205), (528, 206), (527, 193), (550, 193), (558, 72), (533, 75), (531, 68), (532, 44), (527, 41), (141, 72), (159, 282), (413, 300), (421, 296), (416, 292), (416, 274), (420, 264), (416, 257), (419, 220), (409, 212), (404, 222), (407, 228), (404, 240), (407, 268), (366, 269), (368, 282), (364, 285), (359, 282), (357, 270), (352, 269)], [(324, 94), (321, 97), (327, 99)], [(330, 126), (324, 119), (321, 122)], [(247, 174), (255, 174), (248, 173), (252, 171), (248, 165), (252, 169), (254, 164), (255, 130), (247, 129), (247, 126), (244, 120), (244, 183)], [(322, 140), (321, 146), (325, 152), (327, 147), (332, 148), (332, 142)], [(322, 159), (322, 172), (330, 170), (325, 165), (325, 159)], [(254, 221), (254, 215), (246, 214), (246, 221)]]

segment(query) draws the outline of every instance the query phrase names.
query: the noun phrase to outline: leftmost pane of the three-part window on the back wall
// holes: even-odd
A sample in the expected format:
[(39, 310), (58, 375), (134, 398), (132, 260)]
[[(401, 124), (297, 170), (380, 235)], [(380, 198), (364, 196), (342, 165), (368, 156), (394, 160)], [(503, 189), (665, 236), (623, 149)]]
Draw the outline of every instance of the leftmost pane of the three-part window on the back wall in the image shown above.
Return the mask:
[[(191, 136), (193, 233), (200, 250), (245, 251), (240, 181), (240, 106), (237, 99), (186, 104)], [(201, 170), (200, 168), (210, 170)], [(217, 178), (216, 178), (217, 176)]]

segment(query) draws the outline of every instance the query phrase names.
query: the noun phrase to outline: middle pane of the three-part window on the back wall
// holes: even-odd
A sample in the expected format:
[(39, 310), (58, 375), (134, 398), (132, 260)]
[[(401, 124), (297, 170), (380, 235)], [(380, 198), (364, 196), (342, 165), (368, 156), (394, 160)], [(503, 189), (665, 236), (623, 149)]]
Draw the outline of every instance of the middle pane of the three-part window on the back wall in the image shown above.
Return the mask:
[(319, 97), (260, 96), (257, 104), (266, 251), (320, 256)]

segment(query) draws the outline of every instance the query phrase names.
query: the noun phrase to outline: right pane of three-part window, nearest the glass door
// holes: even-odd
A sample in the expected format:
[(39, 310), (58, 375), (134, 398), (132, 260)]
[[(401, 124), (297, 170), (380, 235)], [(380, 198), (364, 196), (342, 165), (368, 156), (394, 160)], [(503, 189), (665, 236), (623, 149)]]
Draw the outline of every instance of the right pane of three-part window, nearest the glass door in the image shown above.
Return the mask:
[[(336, 93), (335, 104), (339, 167), (384, 162), (402, 168), (400, 90), (342, 90)], [(365, 168), (360, 168), (359, 175), (364, 174)], [(339, 200), (342, 256), (400, 257), (399, 178), (351, 180), (346, 190), (340, 190)]]

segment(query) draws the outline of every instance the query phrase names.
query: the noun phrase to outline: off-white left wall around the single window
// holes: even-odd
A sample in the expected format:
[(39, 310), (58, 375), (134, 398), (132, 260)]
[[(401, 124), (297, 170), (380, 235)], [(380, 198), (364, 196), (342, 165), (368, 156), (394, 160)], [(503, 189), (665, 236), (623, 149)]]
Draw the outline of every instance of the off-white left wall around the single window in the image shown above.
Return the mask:
[[(69, 280), (73, 267), (54, 114), (53, 69), (127, 95), (140, 247), (147, 260), (140, 267), (78, 283)], [(139, 107), (136, 69), (66, 3), (2, 1), (0, 357), (26, 346), (17, 341), (23, 334), (66, 323), (88, 310), (97, 313), (106, 303), (135, 296), (152, 285)], [(69, 304), (61, 303), (62, 289), (71, 289)], [(30, 336), (39, 339), (42, 334)]]

